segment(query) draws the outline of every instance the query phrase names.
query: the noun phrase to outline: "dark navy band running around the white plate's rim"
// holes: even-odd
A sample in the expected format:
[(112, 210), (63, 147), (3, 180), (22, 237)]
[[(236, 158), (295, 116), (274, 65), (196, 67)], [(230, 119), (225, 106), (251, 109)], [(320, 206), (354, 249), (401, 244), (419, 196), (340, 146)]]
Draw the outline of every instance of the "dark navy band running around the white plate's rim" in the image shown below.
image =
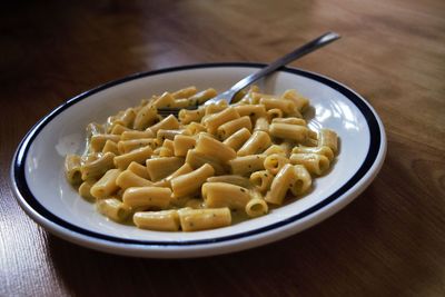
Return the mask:
[[(132, 76), (125, 77), (122, 79), (113, 80), (108, 83), (105, 83), (102, 86), (99, 86), (95, 89), (91, 89), (89, 91), (86, 91), (83, 93), (80, 93), (71, 99), (69, 99), (67, 102), (63, 105), (59, 106), (55, 110), (52, 110), (50, 113), (48, 113), (46, 117), (43, 117), (40, 121), (38, 121), (30, 130), (29, 132), (24, 136), (22, 141), (20, 142), (14, 158), (12, 160), (11, 165), (11, 179), (13, 187), (16, 188), (16, 196), (19, 202), (22, 206), (22, 208), (31, 208), (33, 211), (36, 211), (39, 216), (48, 220), (50, 224), (55, 224), (59, 227), (65, 228), (66, 230), (69, 230), (71, 232), (86, 236), (91, 239), (101, 239), (106, 240), (109, 242), (113, 244), (125, 244), (125, 245), (138, 245), (138, 246), (194, 246), (194, 245), (206, 245), (206, 244), (217, 244), (217, 242), (226, 242), (230, 240), (236, 240), (236, 239), (244, 239), (254, 235), (258, 235), (261, 232), (270, 231), (273, 229), (277, 229), (279, 227), (284, 227), (286, 225), (289, 225), (291, 222), (295, 222), (301, 218), (305, 218), (324, 207), (333, 204), (337, 199), (342, 197), (343, 194), (348, 191), (356, 185), (358, 181), (362, 180), (362, 178), (365, 177), (365, 175), (368, 172), (368, 170), (374, 166), (376, 162), (377, 156), (379, 154), (379, 148), (382, 145), (382, 135), (384, 131), (382, 131), (380, 126), (378, 125), (378, 119), (376, 118), (376, 115), (373, 112), (373, 110), (369, 108), (369, 106), (365, 102), (364, 99), (362, 99), (358, 95), (356, 95), (354, 91), (348, 89), (345, 86), (342, 86), (340, 83), (313, 73), (308, 72), (301, 69), (296, 69), (296, 68), (288, 68), (288, 67), (283, 67), (279, 70), (284, 72), (289, 72), (294, 73), (297, 76), (301, 76), (312, 80), (316, 80), (323, 85), (326, 85), (336, 91), (340, 92), (344, 95), (346, 98), (348, 98), (363, 113), (368, 129), (369, 129), (369, 136), (370, 136), (370, 141), (369, 141), (369, 148), (367, 151), (367, 155), (365, 157), (364, 162), (362, 166), (358, 168), (358, 170), (354, 174), (354, 176), (347, 180), (340, 188), (338, 188), (334, 194), (330, 196), (326, 197), (323, 199), (317, 205), (299, 212), (296, 214), (295, 216), (291, 216), (285, 220), (260, 227), (257, 229), (235, 234), (235, 235), (229, 235), (229, 236), (224, 236), (224, 237), (218, 237), (218, 238), (208, 238), (208, 239), (196, 239), (196, 240), (180, 240), (180, 241), (162, 241), (162, 240), (137, 240), (137, 239), (126, 239), (126, 238), (119, 238), (119, 237), (113, 237), (109, 235), (103, 235), (99, 232), (95, 232), (78, 226), (75, 226), (57, 215), (50, 212), (48, 209), (46, 209), (39, 201), (38, 199), (32, 195), (30, 188), (28, 187), (27, 180), (26, 180), (26, 159), (28, 156), (28, 151), (30, 146), (32, 145), (32, 141), (36, 139), (36, 137), (39, 135), (39, 132), (44, 128), (46, 125), (48, 125), (55, 117), (57, 117), (60, 112), (66, 110), (72, 105), (76, 105), (77, 102), (83, 100), (85, 98), (88, 98), (91, 95), (95, 95), (97, 92), (100, 92), (105, 89), (111, 88), (113, 86), (130, 81), (130, 80), (137, 80), (140, 78), (145, 77), (150, 77), (150, 76), (156, 76), (156, 75), (161, 75), (161, 73), (168, 73), (168, 72), (177, 72), (177, 71), (185, 71), (185, 70), (194, 70), (194, 69), (201, 69), (201, 68), (222, 68), (222, 67), (247, 67), (247, 68), (263, 68), (265, 67), (264, 63), (248, 63), (248, 62), (229, 62), (229, 63), (201, 63), (201, 65), (189, 65), (189, 66), (180, 66), (180, 67), (172, 67), (172, 68), (165, 68), (165, 69), (159, 69), (159, 70), (154, 70), (154, 71), (147, 71), (147, 72), (141, 72), (141, 73), (136, 73)], [(28, 209), (24, 209), (28, 210)], [(28, 211), (27, 211), (28, 212)], [(32, 217), (32, 216), (31, 216)]]

